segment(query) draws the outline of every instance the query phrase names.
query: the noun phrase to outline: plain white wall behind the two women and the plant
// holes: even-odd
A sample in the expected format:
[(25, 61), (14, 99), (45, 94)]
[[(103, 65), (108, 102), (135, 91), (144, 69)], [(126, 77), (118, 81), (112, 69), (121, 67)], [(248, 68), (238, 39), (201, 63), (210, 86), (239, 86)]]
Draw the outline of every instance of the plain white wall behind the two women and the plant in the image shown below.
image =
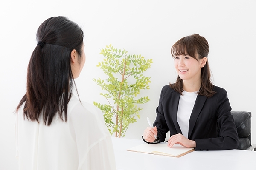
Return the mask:
[[(60, 1), (61, 2), (61, 1)], [(141, 139), (153, 122), (163, 85), (177, 74), (170, 55), (181, 37), (198, 33), (210, 46), (209, 64), (214, 84), (225, 88), (233, 111), (251, 111), (252, 142), (256, 143), (255, 96), (255, 0), (13, 0), (0, 3), (0, 169), (17, 169), (13, 111), (26, 90), (26, 67), (36, 46), (38, 26), (52, 16), (67, 16), (85, 33), (86, 63), (76, 79), (79, 94), (87, 102), (103, 101), (101, 88), (92, 81), (103, 77), (96, 64), (105, 45), (124, 48), (130, 54), (153, 59), (145, 72), (150, 102), (142, 105), (141, 119), (131, 124), (127, 138)], [(66, 3), (65, 3), (66, 2)]]

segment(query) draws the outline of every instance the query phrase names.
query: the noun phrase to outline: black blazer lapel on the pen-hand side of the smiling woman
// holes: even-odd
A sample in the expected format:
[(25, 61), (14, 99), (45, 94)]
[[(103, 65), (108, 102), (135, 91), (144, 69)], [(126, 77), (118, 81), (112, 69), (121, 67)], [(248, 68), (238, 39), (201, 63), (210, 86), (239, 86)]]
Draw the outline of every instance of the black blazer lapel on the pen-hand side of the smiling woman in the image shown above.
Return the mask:
[(171, 116), (172, 116), (172, 121), (175, 125), (177, 133), (182, 134), (180, 130), (180, 126), (177, 122), (177, 113), (178, 113), (178, 106), (179, 106), (179, 101), (180, 101), (180, 94), (178, 92), (172, 93), (172, 99), (171, 99)]

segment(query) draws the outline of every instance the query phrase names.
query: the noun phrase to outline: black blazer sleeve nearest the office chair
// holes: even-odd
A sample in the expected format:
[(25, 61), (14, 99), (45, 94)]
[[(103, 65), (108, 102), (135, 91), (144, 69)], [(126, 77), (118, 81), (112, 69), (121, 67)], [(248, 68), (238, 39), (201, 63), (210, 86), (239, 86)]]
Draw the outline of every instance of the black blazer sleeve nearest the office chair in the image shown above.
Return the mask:
[(231, 106), (227, 92), (221, 88), (217, 92), (216, 116), (219, 127), (219, 136), (216, 138), (195, 139), (195, 150), (228, 150), (238, 147), (238, 134), (231, 115)]

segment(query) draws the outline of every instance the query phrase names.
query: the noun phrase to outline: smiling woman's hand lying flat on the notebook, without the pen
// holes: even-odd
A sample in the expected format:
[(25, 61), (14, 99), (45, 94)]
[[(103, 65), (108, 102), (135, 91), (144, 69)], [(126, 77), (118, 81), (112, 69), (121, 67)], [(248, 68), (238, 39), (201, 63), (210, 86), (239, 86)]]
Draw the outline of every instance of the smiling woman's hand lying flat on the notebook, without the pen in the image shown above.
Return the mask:
[(176, 135), (172, 135), (168, 139), (168, 147), (172, 147), (174, 144), (180, 144), (184, 147), (196, 147), (195, 141), (187, 139), (185, 136), (182, 134), (178, 133)]

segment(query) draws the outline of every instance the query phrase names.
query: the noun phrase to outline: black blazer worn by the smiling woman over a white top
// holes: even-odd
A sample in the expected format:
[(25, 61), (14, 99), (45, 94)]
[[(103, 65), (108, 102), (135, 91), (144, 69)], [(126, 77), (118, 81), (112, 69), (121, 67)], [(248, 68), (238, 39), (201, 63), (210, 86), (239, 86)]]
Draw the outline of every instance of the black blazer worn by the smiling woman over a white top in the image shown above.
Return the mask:
[[(238, 134), (227, 92), (223, 88), (214, 87), (217, 93), (212, 97), (198, 95), (189, 119), (188, 139), (195, 140), (195, 150), (228, 150), (238, 147)], [(166, 133), (170, 136), (181, 133), (177, 122), (177, 111), (180, 94), (169, 85), (162, 88), (157, 117), (159, 142), (163, 142)], [(182, 133), (181, 133), (182, 134)]]

